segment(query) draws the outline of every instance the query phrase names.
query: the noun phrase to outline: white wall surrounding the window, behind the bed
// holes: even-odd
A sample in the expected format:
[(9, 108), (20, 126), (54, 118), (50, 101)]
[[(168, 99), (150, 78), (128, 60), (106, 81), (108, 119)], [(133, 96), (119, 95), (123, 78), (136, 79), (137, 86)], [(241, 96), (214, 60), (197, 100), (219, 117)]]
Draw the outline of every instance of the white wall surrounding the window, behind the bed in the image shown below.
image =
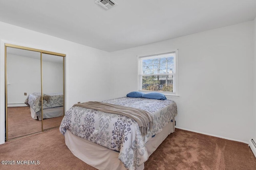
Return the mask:
[(248, 143), (255, 123), (252, 35), (249, 21), (112, 52), (111, 98), (137, 90), (137, 55), (179, 49), (177, 127)]

